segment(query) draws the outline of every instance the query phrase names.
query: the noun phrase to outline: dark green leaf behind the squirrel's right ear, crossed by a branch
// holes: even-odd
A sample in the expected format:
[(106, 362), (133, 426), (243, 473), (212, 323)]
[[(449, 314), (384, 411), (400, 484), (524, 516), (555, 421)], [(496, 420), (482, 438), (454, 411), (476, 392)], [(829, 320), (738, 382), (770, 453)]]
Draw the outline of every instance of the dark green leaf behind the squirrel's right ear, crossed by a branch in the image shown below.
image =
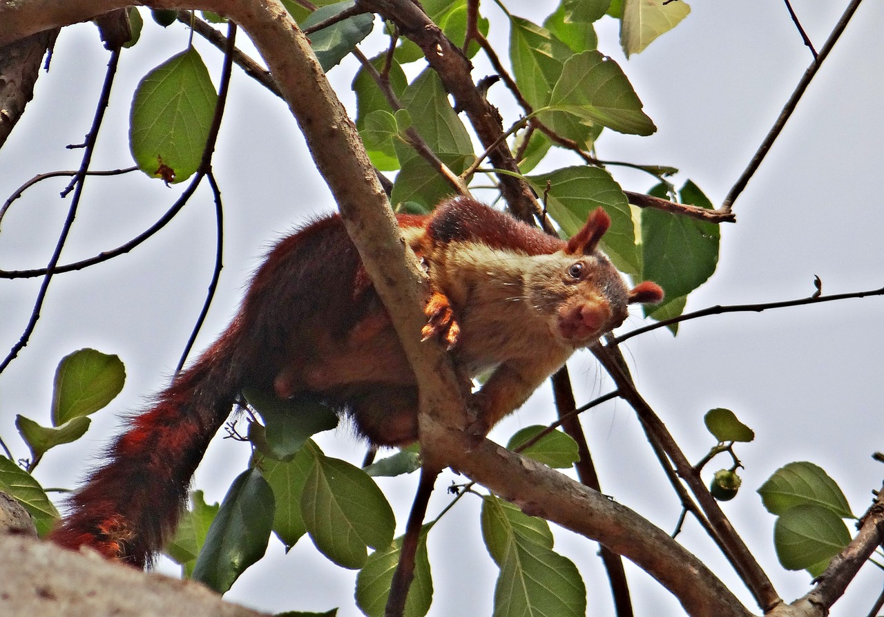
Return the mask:
[[(665, 197), (665, 191), (658, 185), (649, 194)], [(690, 180), (679, 194), (683, 203), (712, 209), (712, 203)], [(687, 295), (713, 275), (718, 265), (718, 225), (654, 208), (642, 209), (641, 223), (642, 278), (663, 287), (667, 297)]]

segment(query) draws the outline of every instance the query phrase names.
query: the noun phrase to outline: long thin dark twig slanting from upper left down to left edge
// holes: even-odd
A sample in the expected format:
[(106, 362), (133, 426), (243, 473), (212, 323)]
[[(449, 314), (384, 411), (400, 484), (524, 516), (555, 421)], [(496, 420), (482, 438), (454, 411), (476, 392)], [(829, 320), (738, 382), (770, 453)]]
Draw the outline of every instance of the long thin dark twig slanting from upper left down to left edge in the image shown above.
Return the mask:
[(80, 162), (80, 173), (78, 173), (77, 175), (77, 187), (73, 193), (71, 207), (67, 211), (65, 225), (62, 227), (62, 231), (58, 236), (56, 248), (52, 252), (52, 256), (50, 257), (50, 263), (46, 266), (46, 273), (43, 276), (40, 290), (37, 292), (37, 297), (34, 300), (34, 310), (31, 312), (31, 317), (28, 320), (27, 325), (25, 326), (25, 331), (22, 332), (18, 342), (16, 342), (16, 344), (12, 346), (9, 354), (7, 354), (4, 358), (4, 361), (0, 363), (0, 373), (2, 373), (7, 366), (9, 366), (10, 362), (18, 357), (19, 351), (27, 346), (27, 341), (31, 338), (31, 334), (34, 332), (34, 328), (36, 328), (37, 321), (40, 319), (40, 310), (43, 306), (43, 301), (46, 299), (46, 293), (49, 291), (52, 275), (55, 273), (58, 259), (61, 257), (61, 251), (63, 248), (65, 248), (65, 241), (67, 240), (68, 233), (71, 232), (73, 219), (77, 216), (77, 208), (80, 205), (80, 197), (83, 194), (83, 186), (86, 184), (86, 171), (89, 168), (89, 164), (92, 162), (92, 154), (95, 151), (95, 142), (98, 140), (98, 130), (102, 126), (104, 112), (105, 110), (107, 110), (108, 103), (110, 102), (110, 88), (113, 86), (114, 76), (117, 74), (118, 62), (119, 50), (111, 51), (110, 61), (108, 62), (108, 69), (107, 72), (104, 74), (102, 92), (98, 98), (98, 104), (95, 107), (95, 117), (93, 118), (92, 126), (89, 129), (86, 140), (86, 148), (83, 150), (83, 158)]

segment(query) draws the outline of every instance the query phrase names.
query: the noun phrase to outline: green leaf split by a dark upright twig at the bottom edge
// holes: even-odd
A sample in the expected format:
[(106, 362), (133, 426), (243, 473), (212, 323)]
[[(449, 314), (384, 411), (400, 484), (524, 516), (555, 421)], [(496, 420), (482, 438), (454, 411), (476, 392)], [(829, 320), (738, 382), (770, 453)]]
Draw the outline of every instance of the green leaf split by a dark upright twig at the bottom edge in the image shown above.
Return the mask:
[[(425, 525), (418, 539), (415, 553), (415, 578), (408, 588), (405, 600), (406, 617), (423, 617), (430, 612), (433, 599), (433, 581), (430, 571), (430, 559), (427, 556), (427, 532), (430, 526)], [(399, 563), (402, 549), (402, 537), (397, 537), (392, 545), (385, 549), (372, 552), (365, 566), (356, 575), (356, 605), (369, 617), (384, 615), (387, 598), (390, 595), (390, 583), (393, 572)]]

